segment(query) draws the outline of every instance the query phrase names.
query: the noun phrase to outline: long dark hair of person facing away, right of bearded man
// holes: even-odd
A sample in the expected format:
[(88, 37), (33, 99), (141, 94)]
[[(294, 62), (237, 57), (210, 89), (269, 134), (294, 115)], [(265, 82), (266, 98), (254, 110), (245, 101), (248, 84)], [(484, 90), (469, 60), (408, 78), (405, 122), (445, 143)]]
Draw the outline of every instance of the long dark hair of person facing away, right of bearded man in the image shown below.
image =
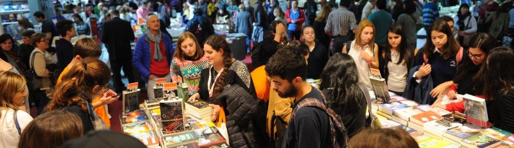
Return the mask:
[(327, 100), (328, 106), (344, 106), (347, 111), (359, 107), (358, 99), (364, 98), (364, 94), (357, 85), (357, 65), (350, 55), (334, 54), (321, 73), (320, 89), (332, 89), (331, 94), (327, 94), (332, 96), (332, 100)]

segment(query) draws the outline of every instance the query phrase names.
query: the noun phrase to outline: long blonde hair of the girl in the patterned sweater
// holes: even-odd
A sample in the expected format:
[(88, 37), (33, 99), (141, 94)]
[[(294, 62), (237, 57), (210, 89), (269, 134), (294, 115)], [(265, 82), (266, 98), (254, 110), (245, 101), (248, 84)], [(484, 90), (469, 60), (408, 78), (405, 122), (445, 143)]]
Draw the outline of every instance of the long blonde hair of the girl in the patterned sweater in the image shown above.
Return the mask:
[(178, 36), (177, 48), (175, 48), (175, 53), (173, 54), (173, 57), (175, 57), (179, 60), (185, 60), (184, 52), (182, 51), (182, 47), (180, 46), (180, 44), (182, 44), (182, 42), (186, 41), (187, 39), (193, 40), (194, 44), (196, 44), (195, 45), (195, 48), (196, 48), (195, 53), (194, 53), (193, 57), (191, 57), (191, 58), (198, 59), (198, 58), (204, 57), (204, 51), (203, 51), (203, 49), (201, 49), (200, 43), (198, 43), (198, 40), (196, 40), (193, 33), (188, 32), (188, 31), (186, 31), (186, 32), (180, 34), (180, 36)]

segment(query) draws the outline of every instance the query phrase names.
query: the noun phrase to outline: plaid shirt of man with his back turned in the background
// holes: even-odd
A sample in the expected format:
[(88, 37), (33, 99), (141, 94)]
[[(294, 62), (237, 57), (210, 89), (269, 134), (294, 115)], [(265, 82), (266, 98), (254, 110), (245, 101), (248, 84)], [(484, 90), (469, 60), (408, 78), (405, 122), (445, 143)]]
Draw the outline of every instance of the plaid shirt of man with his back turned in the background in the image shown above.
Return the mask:
[(348, 30), (357, 28), (355, 14), (346, 8), (339, 8), (328, 14), (325, 32), (331, 32), (333, 36), (346, 36)]

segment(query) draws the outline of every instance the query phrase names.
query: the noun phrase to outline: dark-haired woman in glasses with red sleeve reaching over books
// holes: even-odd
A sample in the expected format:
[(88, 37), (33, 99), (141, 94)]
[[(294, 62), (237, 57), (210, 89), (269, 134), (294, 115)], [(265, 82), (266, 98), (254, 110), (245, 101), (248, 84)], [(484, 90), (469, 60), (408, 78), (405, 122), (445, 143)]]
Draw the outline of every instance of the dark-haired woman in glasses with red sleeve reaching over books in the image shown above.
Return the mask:
[[(454, 84), (447, 90), (448, 99), (455, 99), (457, 94), (469, 94), (480, 98), (484, 90), (484, 71), (481, 69), (482, 65), (486, 64), (487, 55), (489, 50), (498, 47), (498, 42), (494, 36), (487, 33), (481, 33), (473, 36), (470, 40), (470, 47), (468, 49), (468, 56), (470, 60), (463, 60), (461, 65), (457, 67), (457, 73), (453, 78)], [(463, 57), (464, 59), (468, 59)], [(442, 98), (437, 99), (434, 105), (445, 108), (449, 111), (464, 112), (463, 101), (442, 105), (439, 102)]]

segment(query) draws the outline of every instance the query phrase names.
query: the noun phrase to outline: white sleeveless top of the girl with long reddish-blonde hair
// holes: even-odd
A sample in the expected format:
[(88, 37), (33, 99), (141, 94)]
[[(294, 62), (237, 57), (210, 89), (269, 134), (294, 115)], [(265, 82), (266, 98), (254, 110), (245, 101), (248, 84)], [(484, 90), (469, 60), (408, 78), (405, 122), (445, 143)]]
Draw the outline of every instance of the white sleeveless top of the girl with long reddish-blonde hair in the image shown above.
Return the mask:
[[(347, 45), (346, 45), (347, 46)], [(368, 53), (370, 57), (374, 57), (373, 55), (373, 49), (370, 49), (371, 47), (366, 44), (364, 46), (364, 52)], [(371, 87), (371, 81), (370, 81), (370, 66), (368, 65), (368, 61), (362, 59), (360, 57), (360, 52), (363, 50), (360, 46), (357, 46), (355, 44), (355, 40), (352, 41), (352, 44), (350, 46), (350, 52), (348, 54), (352, 56), (354, 59), (355, 65), (357, 65), (357, 71), (359, 71), (359, 82), (364, 83), (364, 85)]]

